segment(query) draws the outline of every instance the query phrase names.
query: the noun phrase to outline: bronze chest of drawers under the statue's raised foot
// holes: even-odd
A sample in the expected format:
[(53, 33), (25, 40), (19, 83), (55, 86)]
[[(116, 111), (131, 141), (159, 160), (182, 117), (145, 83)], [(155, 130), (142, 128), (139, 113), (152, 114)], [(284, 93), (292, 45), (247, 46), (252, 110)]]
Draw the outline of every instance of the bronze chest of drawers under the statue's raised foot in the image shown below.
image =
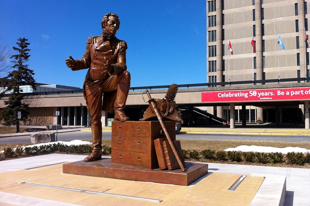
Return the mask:
[[(175, 140), (175, 122), (165, 121), (171, 140)], [(159, 168), (154, 139), (164, 138), (159, 121), (112, 122), (112, 163)]]

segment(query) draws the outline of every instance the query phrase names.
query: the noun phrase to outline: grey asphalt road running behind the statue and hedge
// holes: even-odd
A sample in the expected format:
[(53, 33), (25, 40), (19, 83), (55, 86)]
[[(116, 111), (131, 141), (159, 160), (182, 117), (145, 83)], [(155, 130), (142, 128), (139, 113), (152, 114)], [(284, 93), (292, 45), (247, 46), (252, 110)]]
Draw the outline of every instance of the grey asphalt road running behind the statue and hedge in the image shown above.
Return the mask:
[[(110, 139), (111, 132), (103, 132), (103, 139)], [(227, 140), (227, 141), (250, 141), (250, 142), (302, 142), (310, 143), (310, 136), (263, 136), (263, 135), (231, 135), (231, 134), (177, 134), (176, 139), (190, 140)], [(59, 133), (58, 141), (90, 140), (91, 132), (65, 132)], [(29, 136), (1, 137), (0, 144), (19, 144), (30, 141)]]

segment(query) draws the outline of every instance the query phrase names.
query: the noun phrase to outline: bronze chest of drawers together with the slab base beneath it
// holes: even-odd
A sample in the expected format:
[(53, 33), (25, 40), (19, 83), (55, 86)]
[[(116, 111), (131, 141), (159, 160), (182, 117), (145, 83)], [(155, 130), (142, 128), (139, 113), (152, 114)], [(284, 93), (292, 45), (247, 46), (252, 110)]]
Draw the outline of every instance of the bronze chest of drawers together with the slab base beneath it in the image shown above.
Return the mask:
[[(175, 140), (175, 122), (165, 122)], [(160, 170), (154, 139), (163, 138), (158, 121), (112, 123), (112, 158), (63, 165), (63, 173), (187, 186), (208, 173), (208, 164), (186, 162), (185, 172)]]

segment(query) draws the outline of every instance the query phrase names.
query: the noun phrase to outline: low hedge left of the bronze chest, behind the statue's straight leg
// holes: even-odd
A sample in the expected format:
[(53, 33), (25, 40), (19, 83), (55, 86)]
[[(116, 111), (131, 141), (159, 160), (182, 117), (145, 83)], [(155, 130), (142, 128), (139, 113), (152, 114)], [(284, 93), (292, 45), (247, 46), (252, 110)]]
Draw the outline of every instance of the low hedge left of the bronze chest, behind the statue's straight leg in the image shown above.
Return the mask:
[[(40, 147), (17, 147), (15, 151), (12, 148), (6, 148), (3, 151), (5, 158), (21, 157), (21, 156), (31, 156), (31, 155), (41, 155), (48, 153), (66, 153), (66, 154), (89, 154), (91, 153), (90, 145), (64, 145), (64, 144), (52, 144), (52, 145), (42, 145)], [(102, 154), (108, 155), (111, 154), (111, 147), (106, 145), (102, 146)]]

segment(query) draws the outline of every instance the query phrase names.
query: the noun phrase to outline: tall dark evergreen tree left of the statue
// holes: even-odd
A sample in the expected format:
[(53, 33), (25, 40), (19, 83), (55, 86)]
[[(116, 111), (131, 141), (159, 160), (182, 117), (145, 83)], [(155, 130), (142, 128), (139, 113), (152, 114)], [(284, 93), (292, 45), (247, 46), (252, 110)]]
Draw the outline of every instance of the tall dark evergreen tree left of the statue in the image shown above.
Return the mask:
[[(4, 86), (6, 87), (5, 92), (9, 93), (8, 100), (4, 101), (7, 107), (0, 110), (0, 119), (5, 126), (16, 125), (17, 132), (19, 131), (19, 121), (17, 118), (17, 112), (21, 112), (22, 121), (28, 120), (28, 104), (23, 102), (24, 94), (23, 90), (20, 88), (21, 85), (30, 85), (35, 89), (35, 80), (33, 78), (33, 70), (28, 68), (25, 64), (30, 57), (27, 48), (29, 43), (28, 39), (19, 38), (19, 42), (16, 42), (18, 47), (13, 47), (18, 54), (12, 55), (10, 58), (13, 63), (12, 71), (4, 78), (9, 79), (9, 81), (4, 81)], [(3, 92), (4, 93), (4, 92)]]

